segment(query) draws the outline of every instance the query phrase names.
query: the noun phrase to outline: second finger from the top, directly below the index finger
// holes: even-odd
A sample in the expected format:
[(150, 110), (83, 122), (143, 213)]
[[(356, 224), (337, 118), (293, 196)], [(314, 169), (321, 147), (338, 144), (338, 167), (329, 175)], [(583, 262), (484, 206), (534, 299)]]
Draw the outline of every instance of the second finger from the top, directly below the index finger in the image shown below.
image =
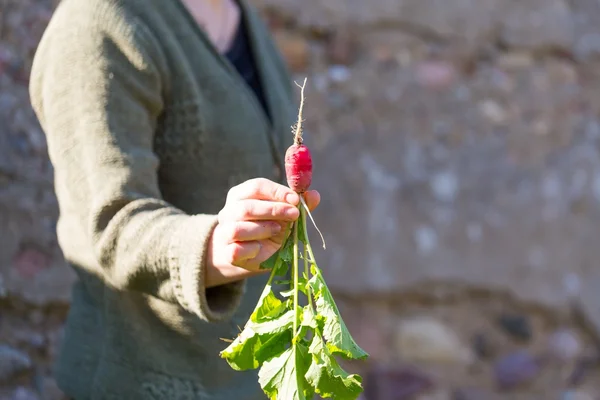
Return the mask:
[(298, 219), (300, 211), (288, 203), (264, 200), (240, 200), (219, 212), (219, 222), (227, 221), (286, 221)]

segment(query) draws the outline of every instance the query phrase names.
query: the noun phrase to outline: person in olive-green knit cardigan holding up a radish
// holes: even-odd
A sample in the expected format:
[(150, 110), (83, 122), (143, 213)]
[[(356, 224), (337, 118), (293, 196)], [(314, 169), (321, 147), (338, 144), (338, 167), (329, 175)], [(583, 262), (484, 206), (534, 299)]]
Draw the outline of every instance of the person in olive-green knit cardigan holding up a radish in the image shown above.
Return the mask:
[(282, 161), (299, 90), (257, 10), (62, 0), (29, 90), (78, 276), (59, 387), (77, 400), (266, 398), (257, 371), (219, 356), (299, 216)]

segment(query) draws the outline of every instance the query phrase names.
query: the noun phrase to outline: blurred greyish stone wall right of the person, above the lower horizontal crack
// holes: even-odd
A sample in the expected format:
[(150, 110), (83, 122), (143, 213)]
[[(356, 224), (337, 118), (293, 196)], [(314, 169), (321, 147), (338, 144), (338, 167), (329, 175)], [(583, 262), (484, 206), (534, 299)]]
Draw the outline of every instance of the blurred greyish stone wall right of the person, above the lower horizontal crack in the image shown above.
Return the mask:
[(338, 291), (581, 295), (600, 321), (600, 3), (259, 3), (313, 85)]

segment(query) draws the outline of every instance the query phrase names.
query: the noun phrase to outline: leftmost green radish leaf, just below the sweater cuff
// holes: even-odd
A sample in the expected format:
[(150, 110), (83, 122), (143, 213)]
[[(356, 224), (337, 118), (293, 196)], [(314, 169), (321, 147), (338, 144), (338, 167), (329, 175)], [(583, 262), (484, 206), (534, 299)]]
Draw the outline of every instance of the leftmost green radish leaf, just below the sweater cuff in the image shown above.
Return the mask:
[[(265, 322), (249, 320), (244, 330), (223, 351), (224, 358), (231, 368), (237, 371), (256, 369), (266, 360), (280, 354), (291, 337), (291, 328), (295, 319), (293, 310), (278, 318)], [(281, 346), (274, 346), (281, 343)]]

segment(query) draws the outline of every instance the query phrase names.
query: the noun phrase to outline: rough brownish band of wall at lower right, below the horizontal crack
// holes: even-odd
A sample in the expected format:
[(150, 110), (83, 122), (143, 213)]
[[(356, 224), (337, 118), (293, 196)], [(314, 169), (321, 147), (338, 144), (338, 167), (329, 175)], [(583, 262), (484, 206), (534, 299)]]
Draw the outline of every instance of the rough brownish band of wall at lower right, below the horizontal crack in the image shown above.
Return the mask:
[[(582, 327), (570, 331), (578, 338), (578, 347), (581, 349), (572, 359), (554, 357), (548, 350), (548, 342), (556, 332), (564, 330), (565, 326), (578, 325), (577, 318), (569, 313), (557, 313), (552, 308), (533, 310), (509, 297), (488, 296), (481, 292), (464, 293), (460, 288), (448, 290), (434, 285), (425, 285), (386, 301), (338, 296), (338, 305), (348, 329), (357, 343), (365, 348), (374, 338), (363, 334), (364, 331), (360, 329), (362, 324), (374, 325), (372, 331), (387, 332), (392, 330), (390, 326), (397, 326), (397, 321), (415, 326), (414, 321), (423, 320), (428, 321), (427, 324), (444, 327), (443, 330), (431, 328), (429, 332), (422, 331), (429, 338), (440, 338), (440, 342), (428, 340), (433, 348), (441, 348), (448, 340), (431, 331), (454, 332), (450, 333), (455, 335), (453, 341), (462, 346), (468, 345), (469, 339), (477, 335), (483, 335), (493, 344), (493, 351), (483, 357), (468, 363), (448, 363), (443, 358), (406, 357), (406, 352), (396, 346), (395, 335), (380, 334), (376, 337), (378, 345), (389, 349), (388, 353), (391, 354), (382, 357), (375, 353), (367, 365), (356, 363), (349, 366), (349, 370), (365, 374), (370, 390), (378, 387), (392, 390), (390, 388), (395, 387), (399, 393), (408, 392), (413, 396), (416, 393), (425, 396), (450, 391), (453, 399), (467, 400), (558, 399), (569, 390), (600, 395), (600, 369), (598, 359), (594, 356), (596, 345), (593, 331)], [(383, 311), (377, 317), (365, 319), (364, 316), (372, 315), (374, 309)], [(501, 315), (525, 312), (531, 321), (530, 341), (515, 339), (498, 328), (497, 320)], [(358, 317), (354, 318), (355, 315)], [(425, 324), (416, 324), (419, 325), (422, 327)], [(470, 345), (475, 352), (476, 341)], [(413, 349), (413, 352), (423, 349), (418, 344), (414, 347), (417, 350)], [(427, 353), (431, 354), (431, 351)], [(425, 377), (428, 385), (423, 385)], [(376, 397), (370, 392), (366, 394), (369, 399), (389, 398)]]

